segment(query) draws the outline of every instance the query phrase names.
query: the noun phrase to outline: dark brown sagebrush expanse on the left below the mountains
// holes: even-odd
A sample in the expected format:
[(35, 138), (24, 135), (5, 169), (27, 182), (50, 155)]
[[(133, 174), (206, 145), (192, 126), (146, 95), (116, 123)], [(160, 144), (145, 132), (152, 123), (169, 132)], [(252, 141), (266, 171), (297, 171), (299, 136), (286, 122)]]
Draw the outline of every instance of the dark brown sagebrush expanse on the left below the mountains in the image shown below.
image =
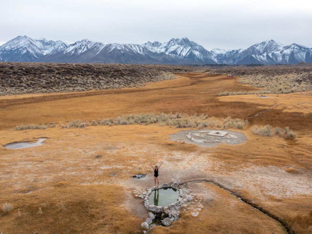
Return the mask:
[(173, 65), (1, 62), (0, 95), (140, 87), (193, 70)]

